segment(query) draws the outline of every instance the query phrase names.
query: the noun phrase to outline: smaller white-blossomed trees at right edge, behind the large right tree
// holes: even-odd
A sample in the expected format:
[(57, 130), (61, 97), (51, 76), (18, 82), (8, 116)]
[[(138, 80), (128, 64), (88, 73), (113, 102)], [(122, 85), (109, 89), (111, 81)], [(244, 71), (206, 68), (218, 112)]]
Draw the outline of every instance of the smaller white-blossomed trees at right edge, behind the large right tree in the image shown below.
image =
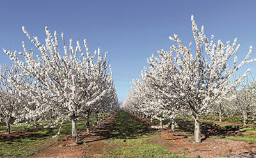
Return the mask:
[(254, 80), (243, 80), (239, 85), (228, 92), (226, 96), (218, 98), (212, 105), (210, 113), (218, 113), (221, 121), (222, 115), (234, 117), (243, 116), (243, 124), (248, 123), (248, 118), (255, 119), (256, 114), (256, 82)]

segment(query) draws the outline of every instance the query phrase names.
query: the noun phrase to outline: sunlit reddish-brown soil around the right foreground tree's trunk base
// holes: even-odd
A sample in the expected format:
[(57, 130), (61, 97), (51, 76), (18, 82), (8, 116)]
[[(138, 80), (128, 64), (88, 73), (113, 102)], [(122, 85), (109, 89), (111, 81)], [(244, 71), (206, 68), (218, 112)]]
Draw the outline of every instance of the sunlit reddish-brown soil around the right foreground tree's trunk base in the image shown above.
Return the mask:
[[(207, 138), (202, 143), (194, 143), (189, 133), (182, 131), (161, 131), (161, 135), (154, 136), (154, 141), (168, 148), (171, 152), (189, 157), (220, 157), (227, 155), (243, 155), (255, 152), (256, 145), (244, 141)], [(168, 143), (166, 143), (168, 141)], [(171, 142), (171, 143), (170, 143)]]

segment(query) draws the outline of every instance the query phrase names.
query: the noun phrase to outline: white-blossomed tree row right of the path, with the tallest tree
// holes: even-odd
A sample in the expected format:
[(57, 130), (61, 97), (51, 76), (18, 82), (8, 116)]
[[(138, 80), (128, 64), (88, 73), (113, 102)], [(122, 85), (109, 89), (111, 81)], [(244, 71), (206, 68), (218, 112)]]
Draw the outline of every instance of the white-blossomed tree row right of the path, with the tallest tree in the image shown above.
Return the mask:
[[(237, 39), (225, 45), (221, 40), (214, 43), (214, 36), (207, 38), (204, 26), (198, 29), (191, 16), (195, 48), (182, 44), (177, 34), (170, 37), (177, 45), (170, 51), (157, 51), (148, 60), (148, 68), (141, 71), (140, 80), (133, 80), (133, 87), (122, 107), (130, 113), (143, 113), (171, 122), (178, 115), (192, 115), (195, 120), (195, 141), (201, 141), (200, 118), (209, 113), (221, 97), (228, 95), (246, 77), (250, 68), (234, 82), (234, 73), (248, 61), (252, 47), (246, 57), (237, 64), (237, 56), (231, 68), (227, 62), (239, 49)], [(193, 55), (193, 52), (195, 54)]]

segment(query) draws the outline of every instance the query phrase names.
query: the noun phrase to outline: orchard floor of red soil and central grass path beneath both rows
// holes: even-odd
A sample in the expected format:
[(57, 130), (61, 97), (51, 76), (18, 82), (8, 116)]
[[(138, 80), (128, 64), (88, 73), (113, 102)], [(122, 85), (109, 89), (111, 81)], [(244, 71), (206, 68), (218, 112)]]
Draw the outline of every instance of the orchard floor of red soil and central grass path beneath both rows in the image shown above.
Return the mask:
[(256, 141), (232, 140), (256, 138), (255, 134), (239, 130), (239, 126), (205, 122), (202, 143), (194, 143), (193, 122), (179, 120), (175, 131), (150, 129), (156, 123), (120, 111), (91, 134), (79, 131), (79, 145), (72, 144), (67, 135), (31, 157), (256, 157)]

